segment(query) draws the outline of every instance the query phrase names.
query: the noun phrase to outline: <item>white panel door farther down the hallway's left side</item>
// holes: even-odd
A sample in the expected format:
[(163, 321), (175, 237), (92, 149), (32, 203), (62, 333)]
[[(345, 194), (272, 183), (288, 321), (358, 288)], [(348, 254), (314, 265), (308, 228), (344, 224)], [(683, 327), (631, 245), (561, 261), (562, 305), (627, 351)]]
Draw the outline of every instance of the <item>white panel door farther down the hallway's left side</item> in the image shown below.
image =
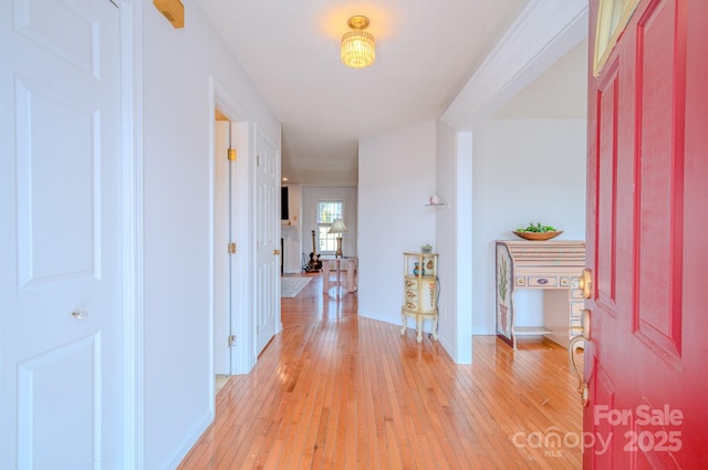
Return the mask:
[(280, 327), (280, 158), (258, 135), (256, 144), (256, 351)]

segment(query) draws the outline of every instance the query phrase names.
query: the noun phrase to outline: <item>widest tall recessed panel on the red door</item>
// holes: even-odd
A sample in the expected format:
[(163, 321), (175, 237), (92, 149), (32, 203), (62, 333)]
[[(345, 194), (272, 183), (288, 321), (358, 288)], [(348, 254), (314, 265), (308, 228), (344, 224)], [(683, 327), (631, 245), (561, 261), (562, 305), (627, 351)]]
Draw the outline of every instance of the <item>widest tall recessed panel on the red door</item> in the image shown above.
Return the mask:
[(638, 257), (634, 328), (649, 347), (657, 348), (659, 357), (670, 358), (680, 355), (681, 326), (686, 90), (685, 25), (677, 13), (674, 1), (655, 2), (643, 12), (636, 32), (635, 75), (638, 143), (634, 241)]

